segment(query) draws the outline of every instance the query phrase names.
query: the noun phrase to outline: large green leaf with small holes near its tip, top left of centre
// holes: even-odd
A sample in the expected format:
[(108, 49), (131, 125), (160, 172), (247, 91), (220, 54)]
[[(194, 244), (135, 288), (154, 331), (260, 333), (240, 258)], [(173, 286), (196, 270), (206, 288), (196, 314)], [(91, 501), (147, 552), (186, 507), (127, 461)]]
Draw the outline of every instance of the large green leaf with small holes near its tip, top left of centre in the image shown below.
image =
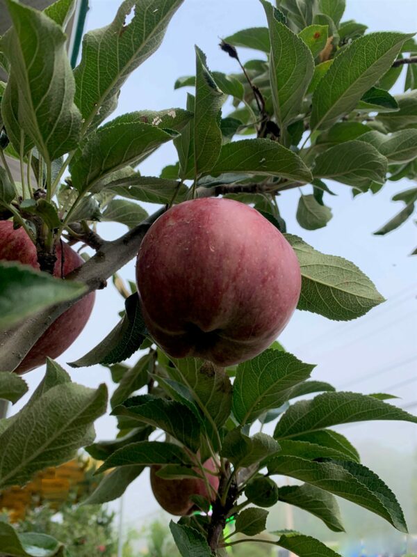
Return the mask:
[[(114, 21), (83, 37), (74, 70), (76, 104), (90, 123), (105, 104), (115, 107), (129, 74), (161, 45), (167, 24), (183, 0), (125, 0)], [(134, 12), (131, 22), (126, 17)]]

